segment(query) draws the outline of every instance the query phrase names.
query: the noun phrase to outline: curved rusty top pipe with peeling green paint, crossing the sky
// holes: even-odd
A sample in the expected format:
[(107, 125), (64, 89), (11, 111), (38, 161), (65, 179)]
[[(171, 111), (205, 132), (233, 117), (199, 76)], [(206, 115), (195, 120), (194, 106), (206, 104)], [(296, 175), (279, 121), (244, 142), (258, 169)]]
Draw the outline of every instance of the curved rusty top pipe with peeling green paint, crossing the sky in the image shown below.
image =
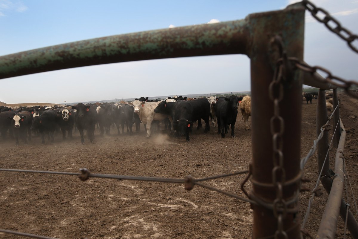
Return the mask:
[(0, 79), (65, 68), (149, 59), (247, 54), (247, 21), (101, 37), (0, 57)]

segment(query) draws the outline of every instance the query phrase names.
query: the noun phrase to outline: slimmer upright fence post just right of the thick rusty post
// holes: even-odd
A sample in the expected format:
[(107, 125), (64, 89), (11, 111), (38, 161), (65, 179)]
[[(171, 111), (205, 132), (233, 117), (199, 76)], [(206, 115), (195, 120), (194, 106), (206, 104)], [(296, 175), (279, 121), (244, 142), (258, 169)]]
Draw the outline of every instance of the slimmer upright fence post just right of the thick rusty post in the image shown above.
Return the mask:
[[(317, 136), (321, 133), (321, 127), (326, 124), (328, 120), (327, 115), (327, 105), (326, 105), (326, 90), (320, 89), (318, 92), (317, 99), (317, 115), (316, 115), (316, 131)], [(328, 131), (324, 131), (323, 137), (317, 143), (317, 161), (318, 161), (318, 173), (322, 170), (322, 175), (328, 175), (329, 169), (329, 154), (327, 154), (328, 150)], [(327, 158), (326, 158), (327, 155)], [(324, 160), (326, 159), (325, 163)], [(332, 185), (332, 181), (329, 177), (321, 177), (320, 178), (324, 188), (327, 192), (329, 192), (330, 187)]]

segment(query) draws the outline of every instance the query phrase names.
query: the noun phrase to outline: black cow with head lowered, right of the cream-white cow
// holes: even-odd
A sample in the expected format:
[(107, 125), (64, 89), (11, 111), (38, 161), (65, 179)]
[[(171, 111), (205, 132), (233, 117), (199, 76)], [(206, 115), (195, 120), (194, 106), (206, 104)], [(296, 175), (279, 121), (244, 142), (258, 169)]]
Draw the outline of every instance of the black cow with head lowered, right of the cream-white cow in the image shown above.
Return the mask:
[(205, 121), (204, 133), (210, 131), (209, 125), (210, 104), (206, 98), (198, 100), (184, 101), (179, 100), (175, 103), (175, 114), (173, 126), (176, 129), (176, 136), (184, 136), (187, 142), (190, 141), (189, 132), (193, 127), (193, 122), (198, 120), (197, 129), (201, 128), (201, 119)]

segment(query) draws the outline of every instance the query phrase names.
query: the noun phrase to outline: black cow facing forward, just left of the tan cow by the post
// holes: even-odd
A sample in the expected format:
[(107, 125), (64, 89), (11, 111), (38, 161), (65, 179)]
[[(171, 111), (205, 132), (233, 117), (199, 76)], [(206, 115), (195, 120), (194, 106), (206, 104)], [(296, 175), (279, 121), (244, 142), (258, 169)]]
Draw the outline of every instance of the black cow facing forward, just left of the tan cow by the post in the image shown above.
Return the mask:
[[(242, 99), (241, 99), (242, 100)], [(231, 137), (235, 138), (234, 128), (237, 117), (237, 104), (239, 99), (236, 95), (229, 98), (220, 98), (215, 104), (215, 114), (218, 121), (218, 133), (225, 137), (228, 125), (231, 125)]]

